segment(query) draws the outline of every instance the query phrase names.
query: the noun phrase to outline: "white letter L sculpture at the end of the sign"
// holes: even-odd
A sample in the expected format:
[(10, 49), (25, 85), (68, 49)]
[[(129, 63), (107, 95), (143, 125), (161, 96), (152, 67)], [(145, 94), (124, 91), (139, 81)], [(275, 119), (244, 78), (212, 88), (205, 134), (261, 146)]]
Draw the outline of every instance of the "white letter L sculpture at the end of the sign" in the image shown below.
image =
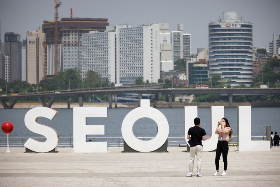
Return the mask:
[(237, 107), (237, 145), (237, 151), (270, 151), (270, 141), (251, 140), (251, 106)]

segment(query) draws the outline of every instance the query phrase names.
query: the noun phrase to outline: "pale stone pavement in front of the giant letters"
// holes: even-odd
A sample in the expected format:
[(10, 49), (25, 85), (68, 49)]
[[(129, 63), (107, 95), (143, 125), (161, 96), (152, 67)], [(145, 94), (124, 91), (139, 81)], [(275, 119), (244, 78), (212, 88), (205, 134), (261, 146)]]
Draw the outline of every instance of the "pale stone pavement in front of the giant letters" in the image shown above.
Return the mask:
[[(0, 148), (1, 187), (63, 186), (280, 186), (280, 147), (269, 152), (236, 152), (230, 147), (227, 176), (213, 176), (215, 152), (203, 152), (202, 177), (186, 177), (186, 147), (168, 147), (168, 153), (24, 153), (25, 148)], [(196, 159), (194, 163), (196, 169)], [(220, 173), (223, 162), (220, 160)], [(193, 172), (196, 174), (196, 172)]]

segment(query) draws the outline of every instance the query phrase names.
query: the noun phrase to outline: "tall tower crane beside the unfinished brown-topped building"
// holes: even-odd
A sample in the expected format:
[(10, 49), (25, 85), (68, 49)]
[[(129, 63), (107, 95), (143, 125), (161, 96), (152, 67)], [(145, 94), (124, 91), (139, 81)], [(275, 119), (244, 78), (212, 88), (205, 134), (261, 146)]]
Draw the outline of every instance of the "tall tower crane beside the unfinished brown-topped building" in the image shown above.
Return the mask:
[(60, 0), (54, 0), (54, 74), (58, 74), (58, 7), (61, 5)]

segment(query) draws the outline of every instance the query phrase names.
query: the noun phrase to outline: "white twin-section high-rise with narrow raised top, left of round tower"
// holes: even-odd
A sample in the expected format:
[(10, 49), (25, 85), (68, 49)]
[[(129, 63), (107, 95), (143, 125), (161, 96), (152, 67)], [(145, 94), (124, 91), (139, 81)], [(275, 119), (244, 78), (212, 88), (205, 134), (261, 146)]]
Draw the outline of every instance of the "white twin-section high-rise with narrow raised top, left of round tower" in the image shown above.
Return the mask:
[(173, 61), (191, 58), (191, 34), (183, 33), (183, 24), (178, 24), (178, 31), (171, 31)]

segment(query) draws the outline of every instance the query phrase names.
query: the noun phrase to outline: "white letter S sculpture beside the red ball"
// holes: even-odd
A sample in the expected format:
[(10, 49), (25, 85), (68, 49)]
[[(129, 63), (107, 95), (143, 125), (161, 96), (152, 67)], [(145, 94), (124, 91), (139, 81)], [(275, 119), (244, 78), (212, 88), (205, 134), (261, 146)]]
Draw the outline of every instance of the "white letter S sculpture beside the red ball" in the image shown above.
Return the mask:
[(36, 107), (30, 109), (24, 117), (24, 122), (26, 127), (37, 134), (41, 134), (47, 138), (46, 141), (40, 142), (33, 138), (28, 138), (24, 146), (31, 151), (45, 153), (52, 151), (57, 147), (59, 142), (59, 135), (57, 131), (49, 127), (48, 125), (43, 125), (38, 123), (38, 117), (46, 117), (52, 120), (58, 112), (52, 108), (47, 107)]

